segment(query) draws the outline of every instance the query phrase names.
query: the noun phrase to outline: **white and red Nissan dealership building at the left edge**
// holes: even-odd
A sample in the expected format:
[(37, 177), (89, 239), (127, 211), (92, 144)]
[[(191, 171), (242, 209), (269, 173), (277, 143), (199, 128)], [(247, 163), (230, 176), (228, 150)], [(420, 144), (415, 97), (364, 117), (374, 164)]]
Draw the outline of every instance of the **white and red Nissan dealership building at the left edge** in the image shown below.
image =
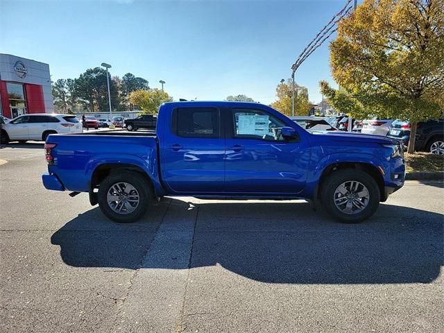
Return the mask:
[(49, 65), (0, 53), (0, 114), (53, 112)]

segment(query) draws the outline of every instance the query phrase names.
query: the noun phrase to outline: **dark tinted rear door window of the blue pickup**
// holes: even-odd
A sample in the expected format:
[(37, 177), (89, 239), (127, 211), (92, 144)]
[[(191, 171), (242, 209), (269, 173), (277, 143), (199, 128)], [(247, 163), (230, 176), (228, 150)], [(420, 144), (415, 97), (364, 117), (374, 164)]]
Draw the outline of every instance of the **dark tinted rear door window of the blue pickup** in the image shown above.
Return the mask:
[(219, 137), (216, 108), (177, 108), (173, 114), (173, 132), (179, 137)]

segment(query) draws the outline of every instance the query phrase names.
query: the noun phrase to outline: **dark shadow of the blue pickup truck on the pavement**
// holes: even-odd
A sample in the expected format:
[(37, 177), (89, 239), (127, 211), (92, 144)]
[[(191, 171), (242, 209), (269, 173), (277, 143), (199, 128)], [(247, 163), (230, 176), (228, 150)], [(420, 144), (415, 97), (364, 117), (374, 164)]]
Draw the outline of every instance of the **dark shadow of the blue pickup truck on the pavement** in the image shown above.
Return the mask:
[(55, 232), (51, 243), (60, 246), (70, 266), (186, 269), (219, 264), (269, 283), (429, 283), (443, 266), (443, 215), (434, 212), (381, 205), (369, 221), (348, 225), (300, 202), (191, 205), (168, 200), (154, 207), (146, 221), (128, 225), (110, 223), (94, 208)]

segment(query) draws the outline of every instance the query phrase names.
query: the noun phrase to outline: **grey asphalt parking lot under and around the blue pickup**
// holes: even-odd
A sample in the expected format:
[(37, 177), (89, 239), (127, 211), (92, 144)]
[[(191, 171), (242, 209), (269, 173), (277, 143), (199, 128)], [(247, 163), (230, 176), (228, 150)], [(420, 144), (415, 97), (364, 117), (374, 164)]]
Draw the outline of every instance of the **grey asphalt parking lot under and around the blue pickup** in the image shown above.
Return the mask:
[(442, 182), (359, 225), (196, 198), (119, 225), (44, 189), (42, 147), (0, 149), (1, 332), (443, 332)]

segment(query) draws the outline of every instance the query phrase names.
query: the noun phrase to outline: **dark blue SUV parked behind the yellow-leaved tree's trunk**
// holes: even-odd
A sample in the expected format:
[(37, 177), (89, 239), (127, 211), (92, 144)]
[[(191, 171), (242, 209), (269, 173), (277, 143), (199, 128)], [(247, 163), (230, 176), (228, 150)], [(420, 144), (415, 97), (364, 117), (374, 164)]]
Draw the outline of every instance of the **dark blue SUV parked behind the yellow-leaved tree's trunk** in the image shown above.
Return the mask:
[[(388, 130), (388, 137), (398, 139), (407, 148), (410, 138), (410, 121), (395, 120)], [(416, 127), (415, 151), (444, 154), (444, 119), (418, 123)]]

